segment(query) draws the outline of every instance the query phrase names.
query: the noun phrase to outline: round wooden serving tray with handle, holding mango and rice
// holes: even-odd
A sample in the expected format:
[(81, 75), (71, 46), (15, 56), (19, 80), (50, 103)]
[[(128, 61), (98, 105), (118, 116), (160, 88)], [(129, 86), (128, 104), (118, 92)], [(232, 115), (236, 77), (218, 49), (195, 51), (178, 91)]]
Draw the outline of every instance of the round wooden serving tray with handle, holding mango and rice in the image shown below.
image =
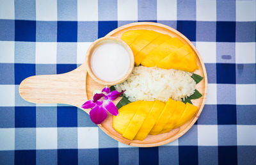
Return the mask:
[[(204, 62), (195, 46), (188, 40), (188, 38), (179, 33), (179, 31), (176, 31), (169, 26), (154, 22), (136, 22), (121, 26), (120, 28), (111, 31), (106, 36), (114, 36), (120, 38), (120, 36), (122, 36), (125, 31), (133, 29), (154, 30), (159, 33), (170, 35), (172, 37), (177, 37), (182, 40), (184, 43), (189, 45), (197, 55), (196, 60), (199, 69), (195, 71), (195, 74), (204, 77), (200, 83), (196, 84), (196, 89), (202, 93), (203, 97), (192, 100), (193, 104), (199, 107), (198, 112), (195, 114), (195, 116), (193, 116), (193, 118), (191, 118), (191, 120), (177, 129), (173, 129), (170, 132), (164, 134), (158, 134), (154, 136), (148, 135), (147, 138), (145, 138), (143, 141), (131, 141), (129, 139), (125, 139), (121, 134), (118, 134), (118, 132), (113, 129), (113, 118), (110, 114), (108, 114), (108, 118), (106, 118), (104, 122), (98, 125), (100, 129), (111, 136), (111, 138), (116, 139), (117, 141), (120, 141), (126, 145), (140, 147), (161, 146), (166, 143), (170, 143), (185, 134), (198, 119), (204, 107), (205, 98), (207, 95), (207, 74)], [(86, 52), (84, 52), (84, 55), (85, 54)], [(70, 104), (72, 106), (81, 108), (81, 105), (86, 100), (92, 98), (94, 90), (101, 90), (102, 88), (104, 88), (103, 85), (93, 81), (93, 79), (87, 74), (86, 65), (83, 63), (83, 65), (80, 67), (65, 74), (36, 75), (28, 77), (22, 81), (22, 83), (20, 83), (19, 92), (20, 96), (29, 102)], [(117, 104), (120, 98), (121, 97), (117, 98), (114, 103)], [(89, 113), (89, 110), (84, 111)]]

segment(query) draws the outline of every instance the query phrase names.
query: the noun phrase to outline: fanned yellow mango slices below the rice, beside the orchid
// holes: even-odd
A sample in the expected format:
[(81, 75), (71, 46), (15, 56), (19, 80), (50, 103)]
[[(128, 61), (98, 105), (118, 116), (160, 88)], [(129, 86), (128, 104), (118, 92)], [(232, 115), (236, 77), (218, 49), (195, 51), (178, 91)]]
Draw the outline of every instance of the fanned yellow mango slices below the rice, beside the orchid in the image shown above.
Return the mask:
[(198, 107), (174, 101), (137, 101), (119, 109), (113, 116), (113, 128), (124, 138), (143, 140), (148, 134), (161, 134), (188, 122)]

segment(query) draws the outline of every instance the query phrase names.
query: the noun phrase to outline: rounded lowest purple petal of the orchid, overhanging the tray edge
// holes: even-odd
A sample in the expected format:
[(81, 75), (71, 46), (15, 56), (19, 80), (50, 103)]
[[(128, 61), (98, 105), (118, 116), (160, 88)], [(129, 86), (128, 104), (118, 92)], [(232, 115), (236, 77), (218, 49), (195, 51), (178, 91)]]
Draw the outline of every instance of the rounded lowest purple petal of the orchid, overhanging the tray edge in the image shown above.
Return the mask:
[(106, 112), (106, 109), (102, 106), (95, 106), (90, 111), (90, 118), (93, 123), (100, 124), (102, 123), (108, 116), (108, 113)]

